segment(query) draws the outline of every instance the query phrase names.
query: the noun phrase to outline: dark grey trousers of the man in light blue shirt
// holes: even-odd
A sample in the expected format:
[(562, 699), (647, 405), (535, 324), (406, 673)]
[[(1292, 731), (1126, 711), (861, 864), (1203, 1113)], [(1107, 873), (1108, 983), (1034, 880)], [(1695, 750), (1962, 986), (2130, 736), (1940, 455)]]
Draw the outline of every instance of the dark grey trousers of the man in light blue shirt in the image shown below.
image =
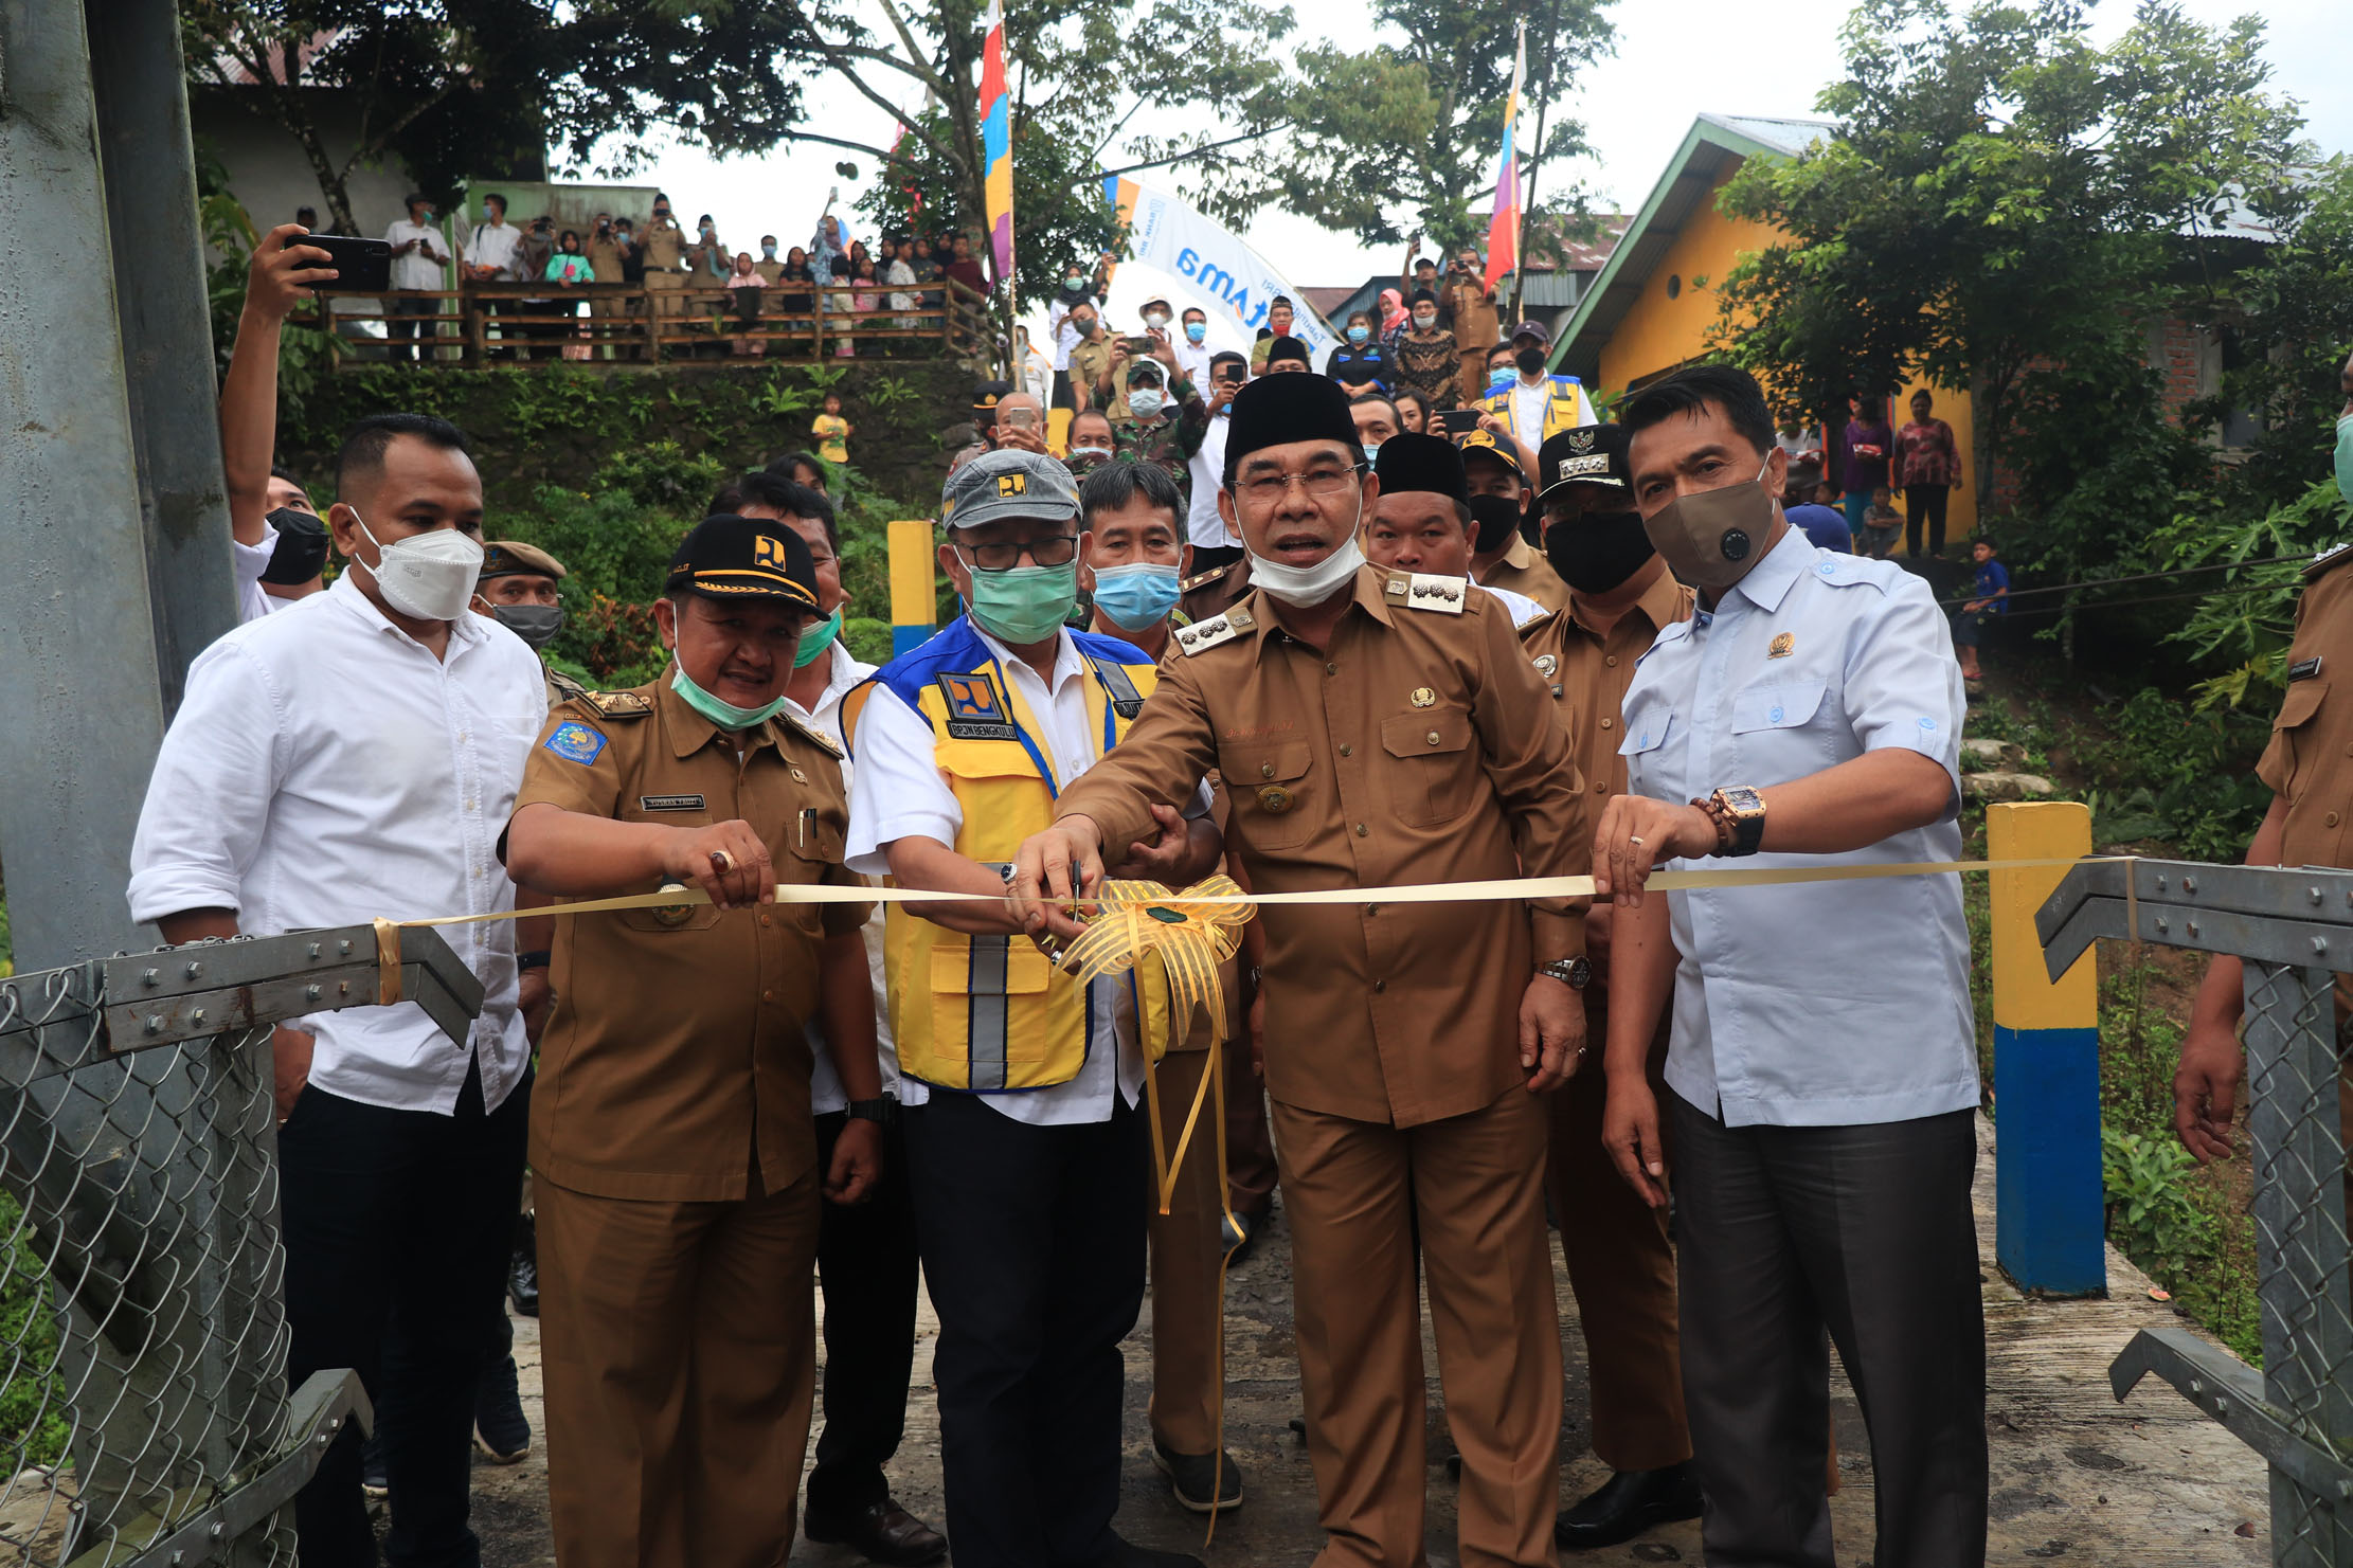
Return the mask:
[(1727, 1128), (1675, 1093), (1666, 1105), (1711, 1568), (1831, 1568), (1824, 1331), (1871, 1427), (1873, 1561), (1984, 1563), (1977, 1112)]

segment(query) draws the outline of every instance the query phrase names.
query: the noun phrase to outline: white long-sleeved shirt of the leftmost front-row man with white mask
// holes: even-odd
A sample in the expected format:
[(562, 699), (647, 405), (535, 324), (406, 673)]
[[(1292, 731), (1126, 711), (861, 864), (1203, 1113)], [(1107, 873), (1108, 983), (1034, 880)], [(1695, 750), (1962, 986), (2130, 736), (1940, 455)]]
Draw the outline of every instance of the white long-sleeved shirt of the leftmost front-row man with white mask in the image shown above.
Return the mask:
[[(511, 910), (496, 842), (546, 715), (539, 658), (480, 616), (435, 658), (341, 576), (247, 621), (188, 668), (132, 839), (132, 919), (235, 910), (240, 931), (278, 936)], [(529, 1063), (515, 926), (442, 940), (485, 987), (466, 1046), (414, 1001), (315, 1013), (313, 1084), (449, 1114), (475, 1060), (482, 1103), (506, 1100)]]

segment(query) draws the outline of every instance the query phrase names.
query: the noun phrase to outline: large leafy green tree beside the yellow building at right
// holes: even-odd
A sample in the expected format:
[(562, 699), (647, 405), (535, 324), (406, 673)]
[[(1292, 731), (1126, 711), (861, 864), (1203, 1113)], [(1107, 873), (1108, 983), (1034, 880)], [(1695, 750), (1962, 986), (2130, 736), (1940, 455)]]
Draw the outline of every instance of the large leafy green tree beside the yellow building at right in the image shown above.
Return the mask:
[(1777, 226), (1722, 287), (1720, 346), (1784, 411), (1927, 376), (1972, 388), (1979, 494), (2021, 475), (2045, 567), (2118, 545), (2195, 482), (2148, 324), (2212, 320), (2259, 261), (2242, 216), (2297, 209), (2292, 101), (2266, 92), (2261, 24), (2144, 2), (2108, 49), (2075, 0), (1866, 0), (1838, 134), (1751, 160), (1722, 209)]

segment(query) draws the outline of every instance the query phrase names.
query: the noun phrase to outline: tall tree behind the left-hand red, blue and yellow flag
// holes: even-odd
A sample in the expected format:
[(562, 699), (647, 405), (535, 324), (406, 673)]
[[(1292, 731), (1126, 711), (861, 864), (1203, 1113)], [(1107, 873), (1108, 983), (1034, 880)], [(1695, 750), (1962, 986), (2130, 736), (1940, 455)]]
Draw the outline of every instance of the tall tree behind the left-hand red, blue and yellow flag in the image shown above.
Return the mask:
[[(864, 153), (878, 165), (861, 212), (882, 228), (984, 233), (984, 153), (979, 120), (986, 7), (941, 0), (904, 7), (880, 0), (889, 31), (807, 16), (819, 59), (854, 92), (899, 118), (896, 146), (873, 146), (800, 129), (814, 141)], [(1238, 141), (1278, 127), (1282, 68), (1266, 45), (1292, 31), (1289, 7), (1231, 28), (1214, 0), (1148, 0), (1136, 7), (1087, 0), (1026, 0), (1007, 7), (1005, 54), (1012, 89), (1014, 284), (1019, 303), (1054, 289), (1071, 261), (1118, 252), (1120, 235), (1104, 202), (1106, 165), (1125, 172), (1207, 167)], [(1200, 110), (1233, 132), (1172, 139), (1134, 136), (1127, 127), (1155, 115)], [(1113, 148), (1132, 148), (1113, 153)], [(842, 165), (845, 176), (856, 165)]]

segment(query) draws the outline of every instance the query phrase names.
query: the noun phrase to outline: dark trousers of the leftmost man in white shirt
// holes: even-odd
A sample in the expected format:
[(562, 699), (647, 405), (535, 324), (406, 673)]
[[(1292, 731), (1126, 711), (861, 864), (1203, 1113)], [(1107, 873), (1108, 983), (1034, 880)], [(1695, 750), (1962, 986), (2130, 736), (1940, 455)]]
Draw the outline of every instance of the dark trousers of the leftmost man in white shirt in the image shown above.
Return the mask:
[[(485, 1114), (480, 1072), (468, 1072), (454, 1117), (311, 1086), (278, 1128), (287, 1382), (360, 1373), (391, 1483), (384, 1549), (402, 1568), (482, 1561), (466, 1528), (473, 1389), (515, 1239), (529, 1119), (529, 1079)], [(304, 1568), (376, 1561), (355, 1425), (294, 1497), (294, 1528)]]

